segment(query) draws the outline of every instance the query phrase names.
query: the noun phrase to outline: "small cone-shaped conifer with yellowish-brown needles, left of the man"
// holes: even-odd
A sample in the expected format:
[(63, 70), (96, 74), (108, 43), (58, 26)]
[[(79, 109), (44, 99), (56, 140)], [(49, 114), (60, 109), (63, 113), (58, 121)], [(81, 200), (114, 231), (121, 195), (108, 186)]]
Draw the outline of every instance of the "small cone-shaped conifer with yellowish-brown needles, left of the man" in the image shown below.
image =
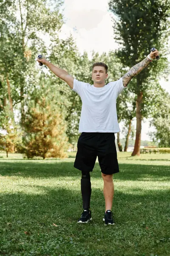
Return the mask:
[[(43, 83), (43, 84), (42, 84)], [(62, 112), (57, 107), (57, 99), (43, 79), (39, 90), (29, 100), (24, 124), (24, 144), (28, 158), (40, 156), (66, 157), (67, 137)]]

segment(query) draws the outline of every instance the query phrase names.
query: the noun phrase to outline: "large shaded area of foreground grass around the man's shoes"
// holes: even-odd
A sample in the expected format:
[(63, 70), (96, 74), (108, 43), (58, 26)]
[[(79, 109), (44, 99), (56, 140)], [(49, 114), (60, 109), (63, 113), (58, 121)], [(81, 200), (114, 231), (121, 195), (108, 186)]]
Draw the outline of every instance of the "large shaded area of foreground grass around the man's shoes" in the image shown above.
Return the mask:
[[(82, 211), (80, 189), (78, 191), (61, 187), (56, 187), (56, 189), (48, 186), (34, 187), (40, 194), (34, 194), (33, 191), (30, 194), (18, 192), (0, 195), (0, 205), (2, 206), (0, 221), (3, 232), (1, 245), (7, 248), (5, 245), (8, 244), (8, 253), (21, 253), (22, 250), (24, 253), (26, 251), (29, 253), (30, 250), (37, 248), (42, 243), (44, 247), (42, 247), (41, 253), (34, 255), (49, 255), (49, 251), (54, 253), (56, 250), (58, 241), (63, 241), (63, 249), (59, 247), (55, 251), (57, 254), (54, 253), (54, 255), (59, 255), (59, 252), (62, 255), (76, 255), (74, 254), (76, 250), (78, 253), (81, 250), (89, 252), (89, 254), (77, 255), (96, 255), (99, 245), (103, 246), (100, 255), (113, 255), (116, 250), (117, 254), (114, 255), (126, 255), (118, 253), (118, 244), (122, 244), (123, 250), (126, 252), (129, 250), (129, 244), (126, 241), (139, 242), (141, 248), (150, 241), (150, 249), (154, 240), (164, 239), (164, 244), (159, 244), (159, 247), (164, 247), (168, 242), (168, 198), (170, 194), (167, 189), (154, 191), (137, 189), (136, 191), (136, 189), (129, 188), (125, 192), (117, 190), (114, 198), (116, 225), (108, 232), (102, 223), (105, 204), (101, 189), (93, 188), (92, 185), (93, 221), (89, 225), (80, 225), (77, 224)], [(148, 230), (149, 236), (146, 225), (151, 228), (150, 233)], [(71, 247), (70, 237), (76, 242), (75, 248)], [(89, 243), (87, 238), (94, 241), (93, 254), (90, 254), (92, 249), (87, 247)], [(113, 241), (116, 244), (113, 245)], [(21, 243), (26, 246), (21, 247)], [(46, 254), (44, 252), (45, 244), (48, 245)], [(114, 249), (113, 246), (115, 246)], [(148, 244), (146, 246), (149, 247)], [(76, 249), (77, 247), (78, 249)], [(71, 253), (72, 250), (74, 250), (73, 253)], [(4, 251), (6, 250), (4, 249)], [(105, 254), (106, 252), (107, 254)], [(134, 255), (134, 253), (128, 255)]]

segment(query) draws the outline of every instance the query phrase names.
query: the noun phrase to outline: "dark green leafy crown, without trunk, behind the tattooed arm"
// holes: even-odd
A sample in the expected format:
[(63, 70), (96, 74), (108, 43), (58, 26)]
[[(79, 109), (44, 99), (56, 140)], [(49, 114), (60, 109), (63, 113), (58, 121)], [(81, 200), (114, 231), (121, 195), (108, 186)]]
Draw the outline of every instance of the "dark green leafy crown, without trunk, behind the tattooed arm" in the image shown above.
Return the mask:
[[(114, 19), (114, 32), (116, 41), (120, 44), (117, 55), (125, 67), (132, 67), (139, 63), (150, 52), (151, 44), (161, 51), (161, 59), (153, 61), (152, 65), (145, 68), (136, 76), (136, 81), (131, 90), (138, 94), (139, 90), (146, 90), (147, 77), (167, 77), (168, 36), (170, 32), (170, 1), (144, 0), (139, 4), (133, 0), (110, 0), (110, 10), (117, 15)], [(159, 72), (158, 72), (159, 71)], [(135, 80), (135, 79), (134, 79)], [(130, 83), (132, 84), (132, 82)]]

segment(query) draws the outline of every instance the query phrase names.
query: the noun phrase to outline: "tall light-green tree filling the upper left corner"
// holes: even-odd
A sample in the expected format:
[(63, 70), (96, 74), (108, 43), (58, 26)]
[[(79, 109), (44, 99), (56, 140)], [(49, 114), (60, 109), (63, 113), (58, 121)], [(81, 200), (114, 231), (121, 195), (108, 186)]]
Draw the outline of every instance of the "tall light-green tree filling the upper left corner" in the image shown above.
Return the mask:
[(63, 24), (59, 12), (61, 4), (61, 1), (48, 0), (4, 0), (0, 3), (0, 80), (3, 80), (3, 87), (8, 86), (4, 91), (8, 91), (11, 111), (13, 105), (20, 102), (21, 124), (24, 94), (30, 84), (28, 70), (32, 67), (33, 71), (37, 52), (46, 53), (40, 33), (50, 39), (58, 36)]

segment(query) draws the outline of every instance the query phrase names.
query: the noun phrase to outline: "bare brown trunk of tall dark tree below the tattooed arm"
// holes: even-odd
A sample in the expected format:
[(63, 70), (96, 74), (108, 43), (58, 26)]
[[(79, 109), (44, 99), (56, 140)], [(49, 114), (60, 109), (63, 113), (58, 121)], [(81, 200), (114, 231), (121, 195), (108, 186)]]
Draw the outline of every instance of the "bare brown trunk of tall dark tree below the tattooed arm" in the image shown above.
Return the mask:
[(140, 92), (136, 100), (136, 140), (135, 147), (132, 152), (132, 156), (140, 156), (140, 145), (141, 145), (141, 130), (142, 130), (142, 98), (143, 93)]

